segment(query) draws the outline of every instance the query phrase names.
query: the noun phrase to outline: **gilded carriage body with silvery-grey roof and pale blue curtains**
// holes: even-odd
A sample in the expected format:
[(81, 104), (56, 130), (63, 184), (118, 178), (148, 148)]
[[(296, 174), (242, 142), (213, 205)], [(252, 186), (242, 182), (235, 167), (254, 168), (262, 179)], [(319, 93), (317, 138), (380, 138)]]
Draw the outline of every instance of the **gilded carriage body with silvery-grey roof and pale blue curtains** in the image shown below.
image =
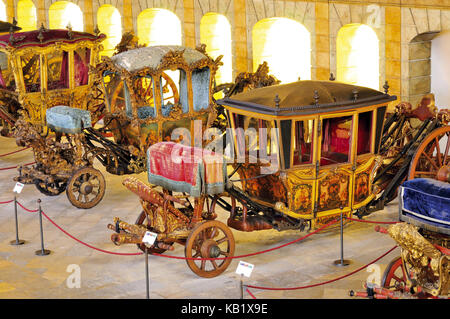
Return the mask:
[[(220, 59), (219, 59), (220, 60)], [(103, 76), (107, 114), (105, 125), (121, 145), (135, 148), (145, 158), (159, 141), (198, 136), (214, 119), (212, 83), (219, 60), (204, 51), (181, 46), (137, 48), (104, 58)], [(195, 120), (201, 120), (195, 126)], [(173, 130), (184, 134), (173, 138)]]

